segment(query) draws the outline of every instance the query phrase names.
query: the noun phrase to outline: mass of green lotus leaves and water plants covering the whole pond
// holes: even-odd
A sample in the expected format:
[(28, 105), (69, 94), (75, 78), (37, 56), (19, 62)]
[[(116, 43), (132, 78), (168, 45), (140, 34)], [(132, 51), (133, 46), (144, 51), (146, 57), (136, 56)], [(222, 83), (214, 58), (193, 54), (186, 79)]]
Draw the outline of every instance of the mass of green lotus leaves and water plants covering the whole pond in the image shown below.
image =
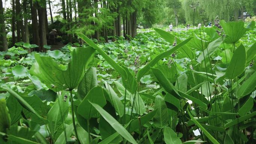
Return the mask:
[(77, 33), (82, 45), (39, 53), (16, 43), (0, 53), (0, 143), (253, 144), (254, 26)]

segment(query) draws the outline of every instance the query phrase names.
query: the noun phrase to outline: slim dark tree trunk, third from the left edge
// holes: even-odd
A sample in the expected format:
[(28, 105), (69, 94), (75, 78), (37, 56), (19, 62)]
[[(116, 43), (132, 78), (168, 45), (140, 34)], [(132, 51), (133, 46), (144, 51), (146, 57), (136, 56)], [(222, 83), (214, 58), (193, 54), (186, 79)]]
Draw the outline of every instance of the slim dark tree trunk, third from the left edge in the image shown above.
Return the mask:
[(21, 4), (19, 0), (15, 0), (15, 11), (16, 11), (16, 29), (17, 29), (17, 41), (21, 41)]

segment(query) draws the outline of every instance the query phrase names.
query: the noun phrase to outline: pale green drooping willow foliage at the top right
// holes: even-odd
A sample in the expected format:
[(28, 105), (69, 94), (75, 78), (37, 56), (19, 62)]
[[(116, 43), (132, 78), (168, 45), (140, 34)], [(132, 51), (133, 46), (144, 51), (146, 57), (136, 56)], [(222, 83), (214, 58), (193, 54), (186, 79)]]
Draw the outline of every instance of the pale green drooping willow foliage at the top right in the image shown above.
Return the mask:
[(196, 7), (196, 20), (204, 12), (208, 21), (213, 21), (216, 16), (219, 16), (219, 19), (231, 21), (238, 18), (241, 0), (183, 0), (183, 10), (188, 22), (193, 21), (193, 6)]

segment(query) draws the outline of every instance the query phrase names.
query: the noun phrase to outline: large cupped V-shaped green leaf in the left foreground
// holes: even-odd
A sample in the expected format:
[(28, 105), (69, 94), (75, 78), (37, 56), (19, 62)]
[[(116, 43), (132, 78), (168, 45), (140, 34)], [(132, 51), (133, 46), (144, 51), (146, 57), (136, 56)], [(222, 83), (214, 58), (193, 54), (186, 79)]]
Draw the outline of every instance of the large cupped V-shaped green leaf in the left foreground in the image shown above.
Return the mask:
[(61, 68), (52, 58), (36, 53), (36, 63), (31, 67), (30, 73), (53, 91), (71, 90), (82, 80), (94, 52), (91, 47), (74, 49), (66, 69)]

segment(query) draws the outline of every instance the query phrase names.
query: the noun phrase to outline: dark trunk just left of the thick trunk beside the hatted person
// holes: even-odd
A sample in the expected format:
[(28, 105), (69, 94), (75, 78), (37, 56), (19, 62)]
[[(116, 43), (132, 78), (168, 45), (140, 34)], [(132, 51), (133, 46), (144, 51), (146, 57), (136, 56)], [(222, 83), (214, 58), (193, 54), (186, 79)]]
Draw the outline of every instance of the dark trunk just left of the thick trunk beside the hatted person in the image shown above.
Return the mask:
[(36, 11), (36, 4), (33, 3), (33, 0), (30, 0), (30, 8), (31, 8), (31, 20), (32, 20), (32, 36), (33, 36), (33, 43), (39, 46), (35, 48), (36, 51), (41, 51), (40, 41), (39, 41), (39, 33), (38, 33), (38, 22), (37, 22), (37, 11)]

